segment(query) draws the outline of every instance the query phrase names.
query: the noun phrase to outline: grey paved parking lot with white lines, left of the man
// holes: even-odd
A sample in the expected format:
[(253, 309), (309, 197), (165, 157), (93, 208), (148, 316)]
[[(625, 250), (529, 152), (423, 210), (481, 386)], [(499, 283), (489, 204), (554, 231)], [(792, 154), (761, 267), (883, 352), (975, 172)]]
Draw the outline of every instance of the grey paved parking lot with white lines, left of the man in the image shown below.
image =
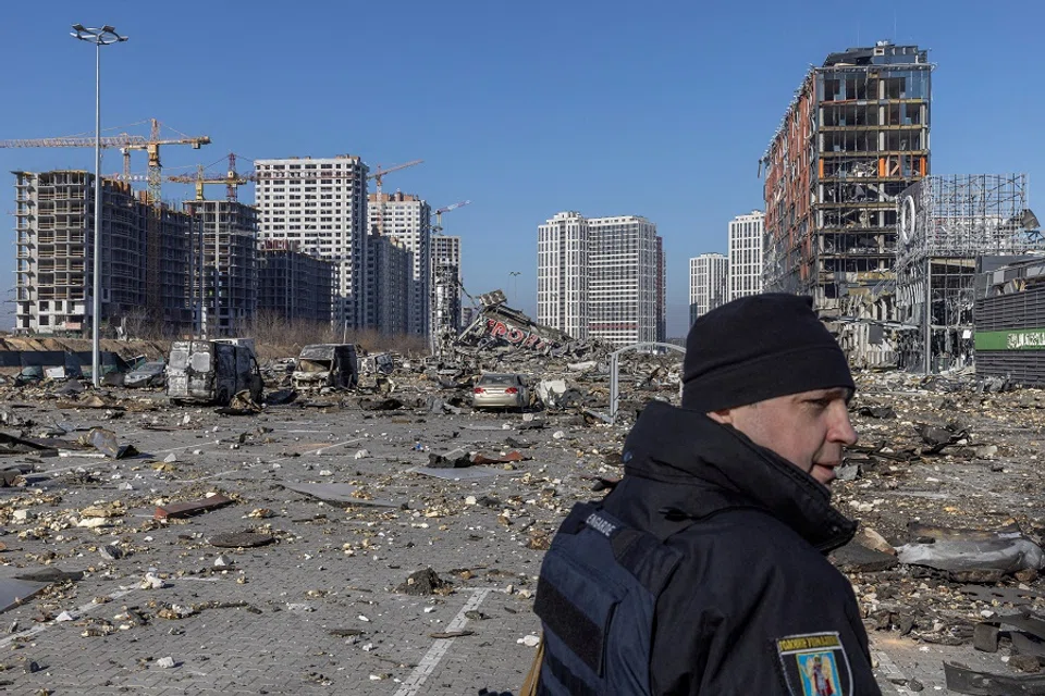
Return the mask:
[[(592, 495), (590, 477), (618, 475), (605, 456), (619, 451), (625, 433), (581, 425), (577, 417), (549, 417), (533, 431), (520, 430), (531, 423), (519, 414), (364, 412), (354, 403), (270, 407), (253, 417), (161, 402), (128, 407), (110, 420), (104, 409), (7, 405), (34, 422), (23, 428), (27, 435), (61, 423), (70, 431), (62, 437), (73, 440), (99, 425), (142, 453), (4, 458), (9, 465), (34, 463), (37, 472), (27, 488), (0, 489), (0, 573), (59, 569), (84, 576), (52, 583), (4, 614), (3, 688), (515, 691), (533, 655), (519, 641), (539, 630), (531, 606), (546, 536), (575, 500)], [(454, 447), (530, 459), (443, 470), (481, 476), (459, 481), (414, 471)], [(357, 486), (359, 504), (327, 504), (283, 486), (295, 482)], [(234, 504), (184, 520), (153, 519), (158, 504), (214, 493)], [(103, 526), (78, 526), (91, 514), (103, 515)], [(244, 531), (274, 542), (211, 544), (218, 534)], [(106, 546), (123, 556), (107, 559)], [(452, 588), (395, 591), (426, 568)], [(162, 586), (143, 587), (148, 573)], [(163, 658), (173, 667), (162, 667)], [(882, 672), (887, 689), (886, 678), (910, 667), (889, 669)]]

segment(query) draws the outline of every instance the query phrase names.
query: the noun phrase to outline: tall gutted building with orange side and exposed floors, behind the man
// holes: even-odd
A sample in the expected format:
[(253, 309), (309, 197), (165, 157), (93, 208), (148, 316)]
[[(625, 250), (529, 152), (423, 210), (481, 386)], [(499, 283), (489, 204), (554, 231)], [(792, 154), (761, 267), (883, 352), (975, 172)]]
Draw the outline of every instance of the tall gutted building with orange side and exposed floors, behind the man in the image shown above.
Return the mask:
[(760, 162), (766, 291), (893, 319), (896, 200), (930, 173), (933, 65), (880, 41), (809, 71)]

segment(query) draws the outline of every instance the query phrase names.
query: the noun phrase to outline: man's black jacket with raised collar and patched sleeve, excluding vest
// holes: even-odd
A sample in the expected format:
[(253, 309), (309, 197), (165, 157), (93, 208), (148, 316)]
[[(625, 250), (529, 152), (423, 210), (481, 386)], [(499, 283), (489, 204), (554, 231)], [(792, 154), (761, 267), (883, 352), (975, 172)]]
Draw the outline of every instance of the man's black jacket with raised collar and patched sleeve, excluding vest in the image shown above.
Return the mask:
[(856, 524), (823, 485), (661, 402), (643, 410), (624, 462), (606, 511), (684, 554), (656, 605), (654, 694), (881, 694), (852, 587), (825, 558)]

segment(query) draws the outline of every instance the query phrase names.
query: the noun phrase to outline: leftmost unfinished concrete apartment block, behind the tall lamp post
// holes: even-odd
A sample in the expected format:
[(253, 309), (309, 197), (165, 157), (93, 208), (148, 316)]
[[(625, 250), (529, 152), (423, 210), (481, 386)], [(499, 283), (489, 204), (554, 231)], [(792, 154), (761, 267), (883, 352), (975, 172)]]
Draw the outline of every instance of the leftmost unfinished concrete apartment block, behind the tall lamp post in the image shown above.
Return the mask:
[[(14, 176), (15, 330), (87, 333), (94, 287), (94, 174), (20, 171)], [(190, 216), (150, 207), (130, 185), (104, 178), (101, 203), (102, 325), (113, 333), (145, 324), (173, 333), (187, 328)]]

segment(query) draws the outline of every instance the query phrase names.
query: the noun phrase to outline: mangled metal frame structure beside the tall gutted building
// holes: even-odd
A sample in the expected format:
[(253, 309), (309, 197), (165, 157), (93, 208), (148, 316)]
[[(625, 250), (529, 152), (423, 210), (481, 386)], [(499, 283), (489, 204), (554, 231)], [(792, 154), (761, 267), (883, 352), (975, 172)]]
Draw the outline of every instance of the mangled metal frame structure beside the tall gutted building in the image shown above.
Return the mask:
[(897, 197), (901, 365), (931, 373), (973, 359), (978, 259), (1045, 249), (1028, 229), (1026, 174), (929, 176)]

